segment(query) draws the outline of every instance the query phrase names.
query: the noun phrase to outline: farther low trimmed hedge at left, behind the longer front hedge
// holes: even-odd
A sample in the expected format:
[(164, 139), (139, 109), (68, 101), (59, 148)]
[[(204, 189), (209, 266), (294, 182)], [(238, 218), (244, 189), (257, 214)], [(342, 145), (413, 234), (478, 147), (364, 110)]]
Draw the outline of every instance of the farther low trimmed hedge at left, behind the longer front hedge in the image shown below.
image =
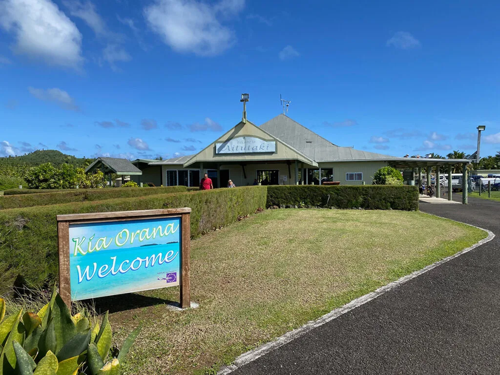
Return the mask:
[(36, 205), (83, 202), (112, 198), (127, 198), (187, 191), (185, 186), (164, 187), (113, 187), (100, 189), (70, 189), (66, 191), (42, 192), (39, 194), (4, 195), (0, 197), (0, 209), (32, 207)]

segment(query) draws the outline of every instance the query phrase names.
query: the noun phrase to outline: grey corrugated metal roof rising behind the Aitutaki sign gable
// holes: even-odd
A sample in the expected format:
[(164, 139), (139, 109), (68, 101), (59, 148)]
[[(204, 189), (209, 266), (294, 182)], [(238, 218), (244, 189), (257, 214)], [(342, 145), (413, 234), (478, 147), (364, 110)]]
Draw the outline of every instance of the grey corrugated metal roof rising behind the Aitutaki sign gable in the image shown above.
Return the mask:
[(394, 156), (339, 147), (290, 117), (279, 114), (260, 127), (314, 161), (391, 159)]

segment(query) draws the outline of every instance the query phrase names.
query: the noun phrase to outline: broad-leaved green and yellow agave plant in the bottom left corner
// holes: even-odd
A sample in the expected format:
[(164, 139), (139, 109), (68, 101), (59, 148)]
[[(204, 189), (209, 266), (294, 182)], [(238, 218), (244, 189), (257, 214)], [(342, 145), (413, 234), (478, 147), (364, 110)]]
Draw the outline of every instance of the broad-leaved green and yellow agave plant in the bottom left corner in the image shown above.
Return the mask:
[(113, 357), (107, 312), (92, 327), (80, 313), (71, 315), (55, 288), (37, 313), (21, 309), (3, 320), (4, 315), (0, 298), (0, 375), (118, 375), (140, 330), (133, 330)]

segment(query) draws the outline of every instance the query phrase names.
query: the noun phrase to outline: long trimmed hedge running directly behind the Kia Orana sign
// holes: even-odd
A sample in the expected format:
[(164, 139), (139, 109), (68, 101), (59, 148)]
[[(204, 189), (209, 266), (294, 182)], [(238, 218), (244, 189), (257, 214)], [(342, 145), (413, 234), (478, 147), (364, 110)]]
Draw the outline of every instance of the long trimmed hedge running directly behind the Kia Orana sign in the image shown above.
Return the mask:
[(56, 279), (57, 214), (191, 207), (191, 236), (197, 236), (263, 208), (265, 198), (266, 186), (243, 186), (1, 210), (0, 294), (18, 274), (35, 287)]

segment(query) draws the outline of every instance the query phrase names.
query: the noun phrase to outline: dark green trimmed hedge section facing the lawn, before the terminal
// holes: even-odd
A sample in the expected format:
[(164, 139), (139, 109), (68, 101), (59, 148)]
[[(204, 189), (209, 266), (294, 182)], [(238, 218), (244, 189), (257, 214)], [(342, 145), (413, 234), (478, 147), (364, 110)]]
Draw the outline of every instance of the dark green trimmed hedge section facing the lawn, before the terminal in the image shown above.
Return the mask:
[(418, 189), (408, 185), (273, 185), (267, 186), (266, 205), (417, 210)]

